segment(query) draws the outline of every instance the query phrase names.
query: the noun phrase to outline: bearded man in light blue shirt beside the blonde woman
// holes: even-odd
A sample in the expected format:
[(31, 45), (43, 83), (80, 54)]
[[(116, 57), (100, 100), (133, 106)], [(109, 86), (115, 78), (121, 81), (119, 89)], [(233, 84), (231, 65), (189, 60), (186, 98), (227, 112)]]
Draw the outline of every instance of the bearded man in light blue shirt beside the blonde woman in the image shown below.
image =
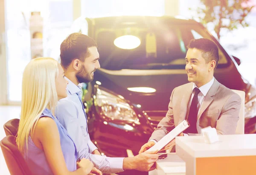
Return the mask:
[(129, 158), (110, 158), (100, 155), (97, 147), (90, 141), (87, 117), (81, 101), (81, 83), (91, 82), (93, 73), (100, 68), (96, 42), (84, 34), (70, 34), (61, 43), (60, 57), (69, 82), (68, 96), (58, 102), (55, 114), (76, 144), (78, 161), (87, 158), (103, 173), (122, 172), (126, 169), (154, 169), (152, 166), (157, 161), (157, 151)]

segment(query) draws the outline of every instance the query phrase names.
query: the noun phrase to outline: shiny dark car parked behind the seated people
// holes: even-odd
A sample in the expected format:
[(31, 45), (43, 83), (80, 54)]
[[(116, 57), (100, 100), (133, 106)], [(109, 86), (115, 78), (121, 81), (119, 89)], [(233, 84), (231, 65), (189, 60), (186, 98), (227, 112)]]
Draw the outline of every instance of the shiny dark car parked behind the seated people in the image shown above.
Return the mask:
[(138, 154), (166, 115), (172, 90), (188, 83), (184, 58), (194, 38), (218, 45), (214, 76), (230, 89), (245, 91), (245, 133), (255, 133), (256, 89), (239, 73), (240, 60), (228, 55), (203, 25), (172, 17), (86, 20), (88, 35), (98, 44), (101, 68), (85, 85), (84, 105), (90, 138), (102, 155)]

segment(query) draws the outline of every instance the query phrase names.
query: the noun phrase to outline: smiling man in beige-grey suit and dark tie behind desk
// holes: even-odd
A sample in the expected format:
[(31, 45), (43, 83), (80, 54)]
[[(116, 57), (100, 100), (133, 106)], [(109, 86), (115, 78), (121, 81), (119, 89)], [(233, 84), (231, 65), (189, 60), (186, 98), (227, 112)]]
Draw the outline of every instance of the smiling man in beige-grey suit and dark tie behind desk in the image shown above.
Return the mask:
[[(189, 121), (183, 135), (196, 135), (201, 128), (215, 127), (218, 134), (235, 134), (239, 120), (241, 98), (238, 94), (219, 83), (213, 76), (218, 65), (218, 47), (211, 40), (191, 40), (186, 53), (186, 73), (190, 83), (172, 91), (168, 112), (157, 129), (144, 144), (145, 152), (163, 136), (173, 130), (184, 119)], [(175, 145), (175, 139), (162, 150)]]

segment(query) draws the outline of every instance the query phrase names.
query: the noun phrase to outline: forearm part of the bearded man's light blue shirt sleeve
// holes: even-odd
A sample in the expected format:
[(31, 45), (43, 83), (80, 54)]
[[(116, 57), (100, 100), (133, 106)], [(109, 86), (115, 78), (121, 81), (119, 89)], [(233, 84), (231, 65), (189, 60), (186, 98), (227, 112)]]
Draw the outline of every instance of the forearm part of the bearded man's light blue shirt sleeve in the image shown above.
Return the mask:
[(122, 168), (124, 158), (111, 158), (105, 155), (90, 154), (88, 159), (103, 173), (116, 173), (124, 171)]

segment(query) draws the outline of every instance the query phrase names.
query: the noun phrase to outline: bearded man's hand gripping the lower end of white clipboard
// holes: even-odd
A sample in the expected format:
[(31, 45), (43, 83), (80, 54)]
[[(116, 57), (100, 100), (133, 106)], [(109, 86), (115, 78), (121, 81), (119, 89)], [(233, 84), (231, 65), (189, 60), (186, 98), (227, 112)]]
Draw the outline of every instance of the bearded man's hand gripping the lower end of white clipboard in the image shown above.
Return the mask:
[(139, 171), (151, 171), (155, 169), (158, 150), (143, 152), (135, 157), (124, 158), (123, 169), (137, 169)]

